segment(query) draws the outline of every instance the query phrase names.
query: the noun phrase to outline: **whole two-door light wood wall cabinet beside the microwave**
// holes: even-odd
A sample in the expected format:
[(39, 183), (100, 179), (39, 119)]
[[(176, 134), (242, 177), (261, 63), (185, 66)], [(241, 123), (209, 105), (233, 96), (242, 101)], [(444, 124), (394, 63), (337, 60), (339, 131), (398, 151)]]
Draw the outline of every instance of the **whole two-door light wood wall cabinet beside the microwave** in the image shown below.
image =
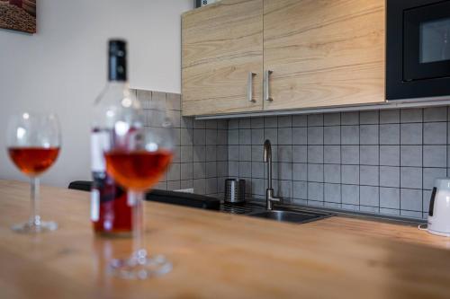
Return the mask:
[(384, 0), (222, 0), (185, 13), (183, 113), (383, 102), (384, 36)]

